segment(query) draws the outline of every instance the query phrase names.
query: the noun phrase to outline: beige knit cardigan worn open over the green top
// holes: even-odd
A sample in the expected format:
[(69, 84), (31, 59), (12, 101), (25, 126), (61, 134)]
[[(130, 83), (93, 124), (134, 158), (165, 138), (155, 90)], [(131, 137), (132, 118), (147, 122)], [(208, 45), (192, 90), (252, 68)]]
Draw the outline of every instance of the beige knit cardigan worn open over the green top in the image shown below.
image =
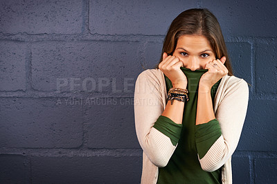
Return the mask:
[[(166, 82), (159, 69), (143, 71), (136, 80), (134, 117), (136, 135), (143, 149), (141, 183), (157, 183), (158, 167), (165, 167), (176, 146), (170, 138), (153, 127), (166, 108)], [(247, 82), (225, 75), (215, 94), (215, 118), (220, 122), (218, 138), (199, 163), (207, 172), (222, 167), (222, 183), (232, 183), (231, 156), (240, 139), (247, 113), (249, 89)]]

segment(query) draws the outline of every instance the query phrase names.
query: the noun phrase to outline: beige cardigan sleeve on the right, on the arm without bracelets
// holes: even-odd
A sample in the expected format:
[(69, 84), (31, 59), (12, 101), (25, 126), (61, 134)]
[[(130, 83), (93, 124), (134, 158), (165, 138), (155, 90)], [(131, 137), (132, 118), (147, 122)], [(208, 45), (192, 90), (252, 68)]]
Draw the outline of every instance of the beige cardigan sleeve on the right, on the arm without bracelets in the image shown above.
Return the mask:
[(233, 81), (235, 82), (227, 81), (226, 86), (217, 89), (221, 91), (221, 96), (218, 97), (221, 100), (217, 105), (215, 118), (220, 123), (222, 135), (202, 158), (199, 157), (200, 165), (206, 172), (222, 167), (238, 146), (247, 113), (249, 89), (244, 80)]

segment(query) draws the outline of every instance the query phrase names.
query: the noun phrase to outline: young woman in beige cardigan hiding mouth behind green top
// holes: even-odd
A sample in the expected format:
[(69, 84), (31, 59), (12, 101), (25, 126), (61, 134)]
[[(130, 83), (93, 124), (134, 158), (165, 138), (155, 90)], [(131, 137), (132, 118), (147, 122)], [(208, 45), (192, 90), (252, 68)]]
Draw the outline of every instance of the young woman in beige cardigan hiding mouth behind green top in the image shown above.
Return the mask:
[(247, 82), (233, 76), (216, 17), (181, 12), (156, 69), (136, 80), (141, 183), (232, 183), (231, 156), (247, 113)]

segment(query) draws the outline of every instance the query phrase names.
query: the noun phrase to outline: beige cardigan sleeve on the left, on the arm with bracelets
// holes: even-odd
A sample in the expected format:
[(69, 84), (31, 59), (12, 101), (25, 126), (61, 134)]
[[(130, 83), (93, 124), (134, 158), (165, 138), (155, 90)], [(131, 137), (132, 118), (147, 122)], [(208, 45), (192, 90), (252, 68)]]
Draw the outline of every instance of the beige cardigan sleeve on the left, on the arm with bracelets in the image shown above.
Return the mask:
[(170, 137), (154, 128), (165, 107), (160, 82), (150, 70), (139, 75), (134, 90), (134, 118), (143, 151), (154, 165), (165, 167), (177, 145), (172, 145)]

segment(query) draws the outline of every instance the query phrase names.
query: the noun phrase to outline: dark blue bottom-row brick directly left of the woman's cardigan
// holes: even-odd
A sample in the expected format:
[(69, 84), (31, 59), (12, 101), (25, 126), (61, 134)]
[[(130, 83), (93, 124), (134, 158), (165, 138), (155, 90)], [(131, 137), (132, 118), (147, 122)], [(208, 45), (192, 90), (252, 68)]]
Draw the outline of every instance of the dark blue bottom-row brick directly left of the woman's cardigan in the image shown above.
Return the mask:
[(138, 156), (32, 157), (33, 183), (139, 183)]

